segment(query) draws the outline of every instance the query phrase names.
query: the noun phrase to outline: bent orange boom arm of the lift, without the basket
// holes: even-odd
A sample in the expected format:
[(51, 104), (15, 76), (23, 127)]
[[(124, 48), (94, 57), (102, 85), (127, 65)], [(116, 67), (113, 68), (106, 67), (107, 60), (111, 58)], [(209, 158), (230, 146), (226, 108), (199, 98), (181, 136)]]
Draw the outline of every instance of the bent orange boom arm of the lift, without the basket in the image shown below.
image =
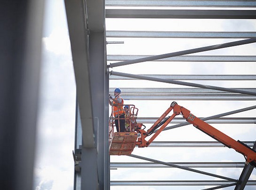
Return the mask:
[[(173, 110), (173, 114), (168, 118), (165, 118), (167, 114), (169, 114)], [(163, 131), (163, 129), (167, 126), (168, 123), (178, 114), (181, 114), (187, 122), (190, 122), (194, 125), (197, 129), (202, 130), (204, 133), (213, 137), (220, 143), (224, 144), (229, 148), (233, 148), (235, 151), (240, 152), (246, 157), (246, 163), (252, 163), (255, 165), (256, 162), (256, 152), (248, 147), (246, 144), (243, 144), (240, 141), (235, 141), (233, 138), (225, 135), (221, 131), (215, 129), (208, 123), (202, 121), (201, 119), (197, 118), (193, 114), (190, 113), (189, 110), (186, 108), (179, 106), (176, 102), (172, 102), (171, 106), (164, 112), (164, 114), (154, 123), (154, 125), (147, 130), (147, 132), (143, 129), (137, 129), (137, 131), (141, 134), (141, 137), (138, 138), (136, 145), (139, 147), (147, 147), (152, 141)], [(161, 126), (162, 125), (162, 126)], [(149, 135), (153, 134), (156, 127), (161, 126), (155, 134), (147, 141), (145, 138)]]

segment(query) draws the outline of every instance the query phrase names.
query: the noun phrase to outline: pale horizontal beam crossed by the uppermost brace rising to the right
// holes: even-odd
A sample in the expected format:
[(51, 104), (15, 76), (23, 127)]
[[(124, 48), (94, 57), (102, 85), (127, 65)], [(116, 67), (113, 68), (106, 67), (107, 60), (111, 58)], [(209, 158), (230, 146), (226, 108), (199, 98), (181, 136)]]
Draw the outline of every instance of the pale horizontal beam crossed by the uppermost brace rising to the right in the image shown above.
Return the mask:
[[(107, 55), (108, 61), (143, 59), (152, 55)], [(155, 56), (155, 55), (153, 55)], [(181, 55), (152, 61), (196, 61), (196, 62), (255, 62), (256, 56), (230, 55)]]

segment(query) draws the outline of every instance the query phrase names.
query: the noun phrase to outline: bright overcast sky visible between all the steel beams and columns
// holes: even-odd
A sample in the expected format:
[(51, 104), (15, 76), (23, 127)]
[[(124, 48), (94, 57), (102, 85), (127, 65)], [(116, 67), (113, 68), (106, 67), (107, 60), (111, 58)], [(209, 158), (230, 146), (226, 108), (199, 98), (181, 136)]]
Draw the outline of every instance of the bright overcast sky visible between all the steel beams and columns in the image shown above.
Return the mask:
[[(190, 20), (186, 23), (182, 19), (107, 19), (107, 30), (163, 30), (163, 31), (256, 31), (255, 21), (242, 20)], [(112, 38), (109, 41), (124, 41), (121, 45), (107, 45), (108, 54), (162, 54), (201, 46), (221, 44), (236, 39), (138, 39), (138, 38)], [(73, 190), (75, 134), (75, 78), (70, 51), (67, 21), (63, 0), (46, 0), (46, 14), (44, 36), (42, 39), (42, 69), (40, 85), (40, 109), (38, 120), (37, 159), (35, 164), (35, 190)], [(216, 50), (206, 55), (255, 55), (256, 45), (244, 45), (224, 50)], [(220, 62), (147, 62), (114, 68), (114, 71), (131, 74), (251, 74), (256, 75), (255, 63), (220, 63)], [(200, 84), (210, 84), (222, 87), (255, 88), (255, 81), (246, 83), (193, 81)], [(173, 84), (138, 81), (110, 81), (110, 87), (182, 87)], [(179, 100), (179, 105), (185, 106), (198, 117), (207, 117), (221, 114), (235, 109), (254, 106), (255, 101), (189, 101)], [(135, 104), (139, 108), (140, 117), (158, 117), (170, 106), (171, 101), (132, 101), (126, 104)], [(248, 111), (235, 116), (255, 117), (256, 112)], [(149, 127), (150, 124), (147, 124)], [(256, 139), (255, 124), (232, 124), (214, 126), (227, 133), (235, 140)], [(241, 130), (242, 128), (242, 130)], [(198, 141), (209, 140), (210, 137), (201, 131), (186, 126), (168, 130), (157, 137), (157, 141)], [(164, 152), (164, 155), (163, 155)], [(216, 153), (217, 152), (217, 153)], [(243, 161), (243, 156), (228, 148), (136, 148), (133, 154), (149, 157), (151, 159), (178, 162), (178, 161)], [(111, 161), (143, 161), (124, 156), (111, 156)], [(217, 175), (238, 178), (241, 169), (210, 168), (204, 169)], [(157, 174), (157, 175), (156, 175)], [(138, 178), (138, 176), (140, 176)], [(111, 180), (193, 180), (209, 179), (194, 173), (183, 172), (174, 168), (163, 169), (125, 169), (111, 170)], [(251, 179), (256, 180), (255, 171)], [(111, 187), (111, 190), (129, 190), (131, 187)], [(173, 188), (173, 187), (171, 187)], [(132, 187), (140, 190), (167, 190), (170, 187)], [(176, 189), (180, 189), (177, 187)], [(182, 189), (182, 188), (181, 188)], [(197, 190), (198, 187), (191, 189)], [(201, 187), (203, 189), (203, 187)], [(232, 190), (225, 188), (225, 190)], [(248, 187), (246, 190), (255, 190)]]

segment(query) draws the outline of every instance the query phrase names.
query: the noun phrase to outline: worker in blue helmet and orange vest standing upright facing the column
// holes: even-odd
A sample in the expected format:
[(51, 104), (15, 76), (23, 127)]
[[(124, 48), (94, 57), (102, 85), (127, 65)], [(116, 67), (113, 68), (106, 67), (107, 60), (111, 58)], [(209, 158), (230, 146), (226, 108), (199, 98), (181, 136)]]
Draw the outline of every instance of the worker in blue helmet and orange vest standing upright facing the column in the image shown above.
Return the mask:
[(113, 98), (109, 94), (109, 105), (113, 106), (113, 115), (115, 117), (117, 132), (119, 132), (119, 123), (120, 123), (120, 132), (124, 132), (125, 131), (124, 109), (123, 109), (124, 100), (120, 97), (120, 94), (121, 94), (121, 90), (119, 88), (116, 88), (114, 91), (115, 98)]

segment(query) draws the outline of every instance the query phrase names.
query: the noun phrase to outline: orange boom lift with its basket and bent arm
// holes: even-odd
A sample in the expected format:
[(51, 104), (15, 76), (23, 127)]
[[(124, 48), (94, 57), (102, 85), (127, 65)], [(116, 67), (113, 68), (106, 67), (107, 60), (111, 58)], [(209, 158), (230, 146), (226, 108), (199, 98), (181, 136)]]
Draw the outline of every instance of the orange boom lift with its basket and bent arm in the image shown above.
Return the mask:
[[(248, 145), (225, 135), (221, 131), (215, 129), (208, 123), (197, 118), (190, 113), (185, 107), (179, 106), (176, 102), (172, 102), (171, 106), (163, 113), (163, 115), (153, 124), (153, 126), (145, 131), (141, 129), (143, 124), (137, 123), (136, 118), (138, 114), (138, 109), (134, 105), (131, 106), (130, 116), (125, 118), (130, 123), (129, 132), (113, 132), (113, 122), (111, 122), (111, 117), (109, 120), (109, 155), (130, 155), (137, 145), (138, 147), (147, 147), (152, 143), (155, 138), (163, 131), (163, 129), (171, 122), (171, 120), (176, 116), (181, 114), (187, 122), (191, 123), (197, 129), (206, 133), (210, 137), (216, 139), (220, 143), (224, 144), (229, 148), (233, 148), (235, 151), (243, 154), (246, 158), (246, 163), (251, 163), (256, 166), (256, 151), (250, 148)], [(136, 110), (136, 112), (135, 112)], [(173, 114), (166, 117), (171, 110)], [(113, 118), (112, 118), (113, 119)], [(159, 128), (159, 129), (158, 129)], [(155, 130), (158, 129), (156, 132)], [(147, 137), (155, 133), (151, 138), (146, 140)]]

